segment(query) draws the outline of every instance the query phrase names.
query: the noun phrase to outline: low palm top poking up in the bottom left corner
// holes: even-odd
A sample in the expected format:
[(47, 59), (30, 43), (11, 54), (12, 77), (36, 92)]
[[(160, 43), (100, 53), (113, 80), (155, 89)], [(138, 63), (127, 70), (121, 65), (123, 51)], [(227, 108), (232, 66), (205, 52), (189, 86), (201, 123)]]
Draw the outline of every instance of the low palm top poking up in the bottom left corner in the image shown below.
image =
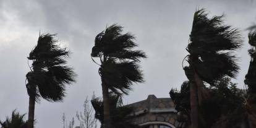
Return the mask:
[(19, 114), (12, 111), (12, 117), (6, 117), (6, 121), (0, 121), (2, 128), (27, 128), (27, 121), (24, 121), (25, 114)]

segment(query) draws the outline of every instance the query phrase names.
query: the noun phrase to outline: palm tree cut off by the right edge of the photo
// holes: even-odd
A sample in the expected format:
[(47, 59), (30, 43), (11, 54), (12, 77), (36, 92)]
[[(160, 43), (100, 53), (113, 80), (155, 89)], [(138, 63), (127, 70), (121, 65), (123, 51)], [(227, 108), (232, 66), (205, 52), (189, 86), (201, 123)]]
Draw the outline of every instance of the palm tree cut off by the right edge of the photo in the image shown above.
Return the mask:
[(244, 83), (248, 86), (247, 114), (250, 127), (256, 127), (256, 32), (249, 33), (250, 66)]

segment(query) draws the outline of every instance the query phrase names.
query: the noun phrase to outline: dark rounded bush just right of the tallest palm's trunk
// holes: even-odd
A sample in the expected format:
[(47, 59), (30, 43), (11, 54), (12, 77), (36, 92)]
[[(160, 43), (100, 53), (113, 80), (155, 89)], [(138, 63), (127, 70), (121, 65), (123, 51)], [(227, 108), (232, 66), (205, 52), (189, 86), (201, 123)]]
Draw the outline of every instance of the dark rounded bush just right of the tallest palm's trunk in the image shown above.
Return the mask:
[(236, 83), (225, 77), (216, 87), (211, 87), (210, 93), (211, 98), (202, 106), (206, 126), (240, 128), (244, 125), (245, 93), (236, 87)]

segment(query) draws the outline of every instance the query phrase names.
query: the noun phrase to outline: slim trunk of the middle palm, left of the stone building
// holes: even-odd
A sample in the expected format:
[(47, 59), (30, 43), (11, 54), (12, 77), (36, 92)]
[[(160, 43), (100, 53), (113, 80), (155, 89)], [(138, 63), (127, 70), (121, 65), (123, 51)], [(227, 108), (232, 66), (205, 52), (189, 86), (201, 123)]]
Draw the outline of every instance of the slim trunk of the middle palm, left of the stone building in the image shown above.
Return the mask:
[(104, 111), (104, 128), (111, 128), (111, 117), (109, 108), (109, 93), (108, 87), (105, 82), (101, 79), (102, 93), (103, 93), (103, 111)]

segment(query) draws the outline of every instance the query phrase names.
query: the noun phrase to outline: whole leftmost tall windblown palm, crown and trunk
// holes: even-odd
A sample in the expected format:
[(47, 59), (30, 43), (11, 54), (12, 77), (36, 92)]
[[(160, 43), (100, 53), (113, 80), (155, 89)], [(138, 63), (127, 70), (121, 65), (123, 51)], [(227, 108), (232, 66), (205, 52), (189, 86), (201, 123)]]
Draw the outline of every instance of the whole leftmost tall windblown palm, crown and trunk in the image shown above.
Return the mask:
[(57, 45), (55, 35), (40, 35), (37, 45), (30, 52), (28, 59), (33, 61), (31, 71), (27, 73), (27, 92), (29, 95), (28, 128), (33, 128), (35, 102), (44, 98), (55, 102), (62, 101), (66, 84), (75, 82), (72, 68), (64, 66), (69, 56), (66, 48)]

